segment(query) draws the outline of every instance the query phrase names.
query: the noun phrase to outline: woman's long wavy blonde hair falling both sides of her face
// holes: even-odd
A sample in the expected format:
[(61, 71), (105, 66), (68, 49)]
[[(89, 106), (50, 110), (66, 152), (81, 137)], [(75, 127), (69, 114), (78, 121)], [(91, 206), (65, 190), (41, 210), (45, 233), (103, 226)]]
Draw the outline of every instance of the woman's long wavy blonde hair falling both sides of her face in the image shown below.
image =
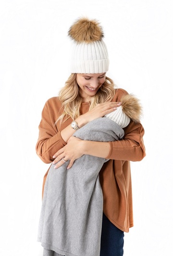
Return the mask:
[[(115, 94), (115, 85), (111, 78), (106, 77), (105, 82), (99, 88), (96, 95), (91, 97), (89, 110), (94, 108), (98, 103), (111, 101)], [(62, 114), (57, 119), (56, 123), (60, 120), (67, 120), (72, 118), (73, 120), (80, 115), (80, 107), (83, 99), (80, 95), (79, 87), (76, 82), (76, 73), (72, 73), (68, 80), (65, 82), (65, 86), (59, 92), (59, 100), (62, 102)], [(66, 119), (64, 119), (66, 117)]]

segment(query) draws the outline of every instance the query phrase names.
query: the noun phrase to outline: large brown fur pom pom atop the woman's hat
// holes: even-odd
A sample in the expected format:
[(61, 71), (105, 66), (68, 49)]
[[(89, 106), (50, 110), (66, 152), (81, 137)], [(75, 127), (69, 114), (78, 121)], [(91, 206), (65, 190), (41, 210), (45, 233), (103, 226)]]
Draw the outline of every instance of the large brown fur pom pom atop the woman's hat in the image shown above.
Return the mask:
[(92, 43), (101, 41), (104, 37), (99, 22), (87, 18), (80, 18), (74, 22), (68, 31), (68, 35), (77, 43)]

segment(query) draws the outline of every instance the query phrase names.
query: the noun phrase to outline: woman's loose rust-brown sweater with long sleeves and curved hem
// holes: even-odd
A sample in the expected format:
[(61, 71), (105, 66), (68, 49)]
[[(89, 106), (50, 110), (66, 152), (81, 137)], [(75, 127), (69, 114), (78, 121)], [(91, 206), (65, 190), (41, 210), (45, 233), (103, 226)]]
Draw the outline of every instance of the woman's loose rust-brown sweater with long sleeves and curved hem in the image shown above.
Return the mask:
[[(127, 94), (124, 89), (115, 90), (112, 101), (120, 101), (121, 97)], [(88, 102), (82, 103), (80, 113), (86, 113), (88, 108)], [(61, 126), (60, 122), (55, 125), (61, 114), (60, 109), (58, 97), (53, 97), (45, 103), (42, 111), (36, 152), (44, 163), (51, 163), (54, 153), (66, 145), (60, 132), (72, 122), (72, 119), (69, 118)], [(124, 128), (124, 132), (123, 140), (109, 142), (111, 149), (106, 158), (110, 160), (104, 163), (99, 172), (99, 179), (103, 191), (103, 212), (117, 228), (128, 232), (129, 228), (133, 227), (130, 161), (140, 161), (146, 153), (143, 143), (144, 128), (140, 123), (135, 124), (131, 121)], [(44, 176), (43, 190), (48, 171)]]

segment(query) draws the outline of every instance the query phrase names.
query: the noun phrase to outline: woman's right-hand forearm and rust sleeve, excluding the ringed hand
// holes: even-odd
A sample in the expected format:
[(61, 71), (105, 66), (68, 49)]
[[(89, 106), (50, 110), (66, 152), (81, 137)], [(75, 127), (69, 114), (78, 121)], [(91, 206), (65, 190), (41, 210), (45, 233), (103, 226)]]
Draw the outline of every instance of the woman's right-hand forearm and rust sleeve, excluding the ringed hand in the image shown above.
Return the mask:
[(115, 160), (141, 161), (146, 156), (143, 126), (131, 121), (124, 130), (124, 139), (120, 141), (84, 141), (83, 154)]

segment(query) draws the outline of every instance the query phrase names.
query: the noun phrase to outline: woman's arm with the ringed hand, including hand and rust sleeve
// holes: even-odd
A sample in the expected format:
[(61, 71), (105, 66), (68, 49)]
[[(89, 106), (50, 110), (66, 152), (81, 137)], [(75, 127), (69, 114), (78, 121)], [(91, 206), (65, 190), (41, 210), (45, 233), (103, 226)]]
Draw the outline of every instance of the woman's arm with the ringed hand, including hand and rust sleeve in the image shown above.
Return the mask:
[(144, 128), (141, 124), (130, 122), (125, 128), (124, 139), (114, 142), (93, 142), (82, 141), (71, 137), (67, 145), (60, 149), (55, 155), (55, 169), (64, 162), (61, 159), (70, 160), (68, 169), (72, 167), (74, 161), (83, 156), (91, 155), (107, 159), (140, 161), (146, 155), (143, 143)]

